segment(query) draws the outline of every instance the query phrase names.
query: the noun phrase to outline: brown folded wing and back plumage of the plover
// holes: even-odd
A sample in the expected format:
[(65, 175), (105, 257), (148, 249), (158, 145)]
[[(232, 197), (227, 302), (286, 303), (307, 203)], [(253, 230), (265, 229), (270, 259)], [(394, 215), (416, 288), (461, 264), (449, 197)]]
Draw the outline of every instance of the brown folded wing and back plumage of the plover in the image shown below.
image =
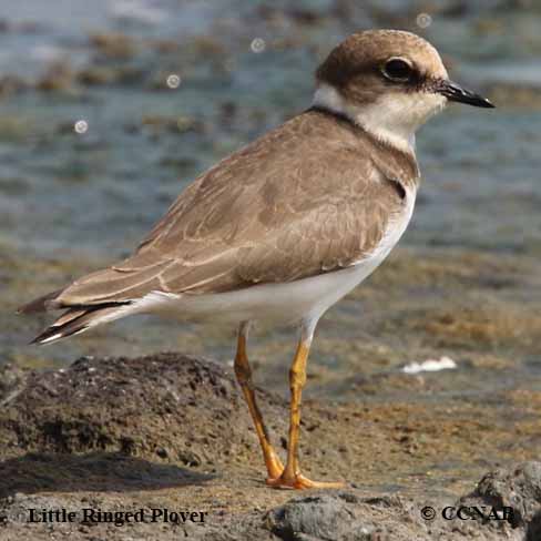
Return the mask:
[[(346, 267), (378, 245), (416, 182), (412, 157), (307, 112), (196, 178), (135, 254), (65, 288), (58, 306), (126, 302), (152, 290), (204, 294)], [(379, 157), (375, 160), (375, 155)]]

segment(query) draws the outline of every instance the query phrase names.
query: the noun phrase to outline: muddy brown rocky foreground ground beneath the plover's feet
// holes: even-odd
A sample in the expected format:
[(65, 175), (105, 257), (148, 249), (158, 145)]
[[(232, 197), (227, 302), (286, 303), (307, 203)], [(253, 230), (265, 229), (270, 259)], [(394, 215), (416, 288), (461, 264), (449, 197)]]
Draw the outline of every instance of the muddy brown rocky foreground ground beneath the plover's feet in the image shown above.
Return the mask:
[[(305, 473), (346, 484), (293, 493), (265, 486), (232, 372), (211, 360), (178, 354), (86, 357), (45, 372), (7, 366), (1, 380), (2, 541), (541, 535), (541, 463), (533, 461), (541, 392), (494, 392), (493, 400), (507, 405), (507, 419), (490, 402), (463, 397), (429, 406), (308, 399)], [(423, 388), (430, 385), (426, 378)], [(263, 389), (258, 395), (284, 452), (287, 402)], [(443, 520), (443, 508), (460, 504), (494, 507), (502, 520)], [(436, 519), (422, 518), (425, 506)], [(73, 522), (29, 523), (30, 509), (62, 508), (75, 512)], [(83, 508), (144, 509), (147, 520), (83, 522)], [(150, 522), (151, 509), (204, 513), (194, 516), (203, 522)]]

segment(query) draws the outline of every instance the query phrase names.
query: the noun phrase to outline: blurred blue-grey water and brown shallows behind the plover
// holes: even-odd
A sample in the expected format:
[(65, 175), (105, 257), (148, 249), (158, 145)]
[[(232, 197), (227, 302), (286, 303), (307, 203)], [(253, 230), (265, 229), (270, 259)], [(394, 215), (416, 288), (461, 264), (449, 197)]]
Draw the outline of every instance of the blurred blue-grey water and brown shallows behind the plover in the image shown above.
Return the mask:
[[(541, 4), (534, 0), (0, 0), (0, 364), (233, 356), (234, 329), (132, 318), (38, 348), (17, 306), (130, 253), (218, 159), (310, 104), (313, 72), (368, 28), (429, 39), (493, 111), (418, 134), (400, 247), (321, 321), (312, 396), (486, 399), (541, 381)], [(249, 210), (247, 210), (249, 212)], [(292, 333), (254, 336), (286, 389)], [(456, 369), (405, 375), (449, 357)]]

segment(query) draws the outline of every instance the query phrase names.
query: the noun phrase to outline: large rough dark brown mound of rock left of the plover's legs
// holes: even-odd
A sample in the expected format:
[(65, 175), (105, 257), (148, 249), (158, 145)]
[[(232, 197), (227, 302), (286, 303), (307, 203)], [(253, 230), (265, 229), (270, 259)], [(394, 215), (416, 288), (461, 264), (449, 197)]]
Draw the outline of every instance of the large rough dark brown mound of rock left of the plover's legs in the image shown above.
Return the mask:
[[(227, 462), (258, 452), (235, 385), (221, 366), (183, 355), (85, 357), (31, 372), (0, 418), (0, 441), (4, 455), (112, 451), (190, 466), (211, 456)], [(277, 418), (287, 419), (285, 407)]]

